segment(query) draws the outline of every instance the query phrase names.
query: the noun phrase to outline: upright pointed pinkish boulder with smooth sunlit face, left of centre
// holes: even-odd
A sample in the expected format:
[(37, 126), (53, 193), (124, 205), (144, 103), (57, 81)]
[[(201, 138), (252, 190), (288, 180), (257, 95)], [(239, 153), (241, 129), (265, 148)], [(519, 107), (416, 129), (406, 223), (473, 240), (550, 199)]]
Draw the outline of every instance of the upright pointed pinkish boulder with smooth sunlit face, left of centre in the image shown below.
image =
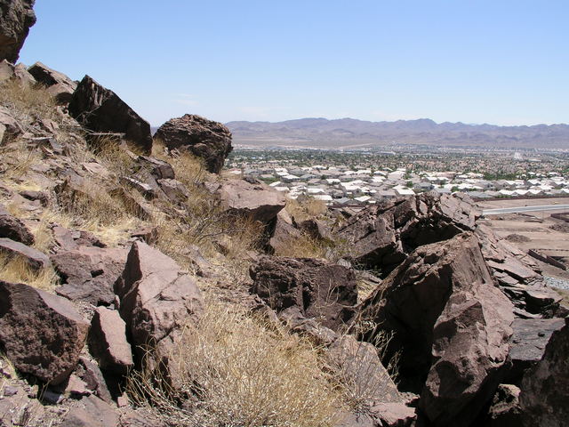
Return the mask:
[(183, 327), (204, 310), (194, 280), (172, 258), (143, 242), (132, 244), (115, 292), (135, 352), (141, 358), (150, 347), (166, 364)]

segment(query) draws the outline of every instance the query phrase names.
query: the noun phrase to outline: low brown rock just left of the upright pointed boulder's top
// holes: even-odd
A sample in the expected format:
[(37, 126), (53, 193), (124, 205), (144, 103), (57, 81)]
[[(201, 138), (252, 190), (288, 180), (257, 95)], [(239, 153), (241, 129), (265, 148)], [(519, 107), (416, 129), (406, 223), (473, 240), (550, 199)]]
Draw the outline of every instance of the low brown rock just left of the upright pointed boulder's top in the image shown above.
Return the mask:
[(78, 246), (51, 256), (62, 279), (57, 294), (71, 301), (110, 305), (115, 301), (113, 286), (126, 263), (127, 249)]

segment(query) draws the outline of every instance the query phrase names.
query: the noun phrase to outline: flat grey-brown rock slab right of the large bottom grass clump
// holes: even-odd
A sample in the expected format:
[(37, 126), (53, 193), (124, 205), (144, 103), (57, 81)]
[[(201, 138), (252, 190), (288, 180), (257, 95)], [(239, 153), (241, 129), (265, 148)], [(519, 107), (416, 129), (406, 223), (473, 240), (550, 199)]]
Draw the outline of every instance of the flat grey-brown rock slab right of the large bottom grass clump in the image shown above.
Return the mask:
[(388, 370), (381, 365), (377, 349), (369, 342), (358, 342), (351, 335), (342, 336), (330, 346), (327, 357), (347, 385), (350, 395), (361, 404), (403, 404), (404, 400)]

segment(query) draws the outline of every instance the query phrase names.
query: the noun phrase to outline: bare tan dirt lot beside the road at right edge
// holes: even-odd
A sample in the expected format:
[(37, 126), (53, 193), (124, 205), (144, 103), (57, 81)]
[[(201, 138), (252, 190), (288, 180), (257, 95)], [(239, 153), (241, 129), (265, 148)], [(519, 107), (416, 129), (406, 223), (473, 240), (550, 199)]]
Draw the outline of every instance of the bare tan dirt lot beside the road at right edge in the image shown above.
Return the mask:
[[(557, 201), (558, 205), (569, 205), (569, 197), (530, 200), (493, 200), (490, 202), (479, 202), (477, 205), (482, 209), (496, 209), (525, 205), (550, 205), (552, 200)], [(554, 224), (563, 223), (561, 220), (551, 218), (551, 214), (556, 212), (564, 212), (564, 210), (491, 215), (486, 217), (483, 221), (501, 238), (507, 238), (509, 235), (516, 234), (528, 239), (528, 241), (509, 240), (511, 245), (517, 246), (525, 252), (529, 249), (534, 249), (542, 254), (556, 258), (562, 257), (559, 261), (565, 262), (565, 264), (569, 266), (569, 232), (550, 229), (550, 226)], [(517, 238), (516, 240), (525, 239)], [(543, 270), (543, 274), (555, 278), (569, 279), (569, 271), (558, 269), (544, 262), (538, 263)]]

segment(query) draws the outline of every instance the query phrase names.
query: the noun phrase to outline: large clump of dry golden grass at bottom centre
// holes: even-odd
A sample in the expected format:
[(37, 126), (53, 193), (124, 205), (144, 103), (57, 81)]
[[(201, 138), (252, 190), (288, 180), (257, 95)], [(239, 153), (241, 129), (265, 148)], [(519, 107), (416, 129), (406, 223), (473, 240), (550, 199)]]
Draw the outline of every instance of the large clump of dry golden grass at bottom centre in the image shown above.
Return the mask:
[(210, 303), (172, 357), (180, 394), (158, 388), (148, 373), (132, 375), (128, 387), (169, 425), (324, 427), (341, 407), (317, 349), (234, 306)]

